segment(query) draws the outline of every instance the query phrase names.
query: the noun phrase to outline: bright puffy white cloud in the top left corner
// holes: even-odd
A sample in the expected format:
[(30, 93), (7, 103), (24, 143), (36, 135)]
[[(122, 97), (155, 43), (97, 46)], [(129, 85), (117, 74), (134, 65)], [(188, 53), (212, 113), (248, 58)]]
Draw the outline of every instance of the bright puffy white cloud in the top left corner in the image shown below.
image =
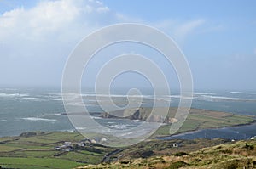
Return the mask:
[[(43, 1), (34, 8), (16, 8), (4, 13), (0, 19), (1, 32), (9, 29), (26, 28), (27, 34), (34, 31), (55, 31), (73, 24), (73, 21), (90, 23), (90, 15), (97, 15), (108, 7), (93, 1)], [(84, 18), (84, 20), (77, 20)], [(15, 30), (18, 31), (18, 30)], [(3, 34), (3, 33), (2, 33)]]

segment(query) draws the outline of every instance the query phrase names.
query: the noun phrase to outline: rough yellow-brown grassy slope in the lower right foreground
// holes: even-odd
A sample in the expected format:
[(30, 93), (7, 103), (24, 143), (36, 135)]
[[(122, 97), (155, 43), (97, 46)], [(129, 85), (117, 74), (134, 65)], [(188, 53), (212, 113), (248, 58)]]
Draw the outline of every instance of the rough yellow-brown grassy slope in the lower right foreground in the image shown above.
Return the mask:
[(256, 168), (256, 141), (219, 144), (190, 153), (158, 155), (149, 158), (126, 159), (110, 164), (89, 165), (81, 168)]

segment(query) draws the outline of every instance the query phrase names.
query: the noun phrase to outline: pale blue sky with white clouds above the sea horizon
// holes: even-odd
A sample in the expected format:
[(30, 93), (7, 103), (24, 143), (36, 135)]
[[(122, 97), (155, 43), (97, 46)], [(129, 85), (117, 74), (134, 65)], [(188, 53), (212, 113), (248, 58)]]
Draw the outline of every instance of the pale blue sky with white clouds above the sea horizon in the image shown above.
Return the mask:
[[(139, 23), (154, 26), (177, 42), (189, 62), (195, 89), (255, 91), (255, 7), (253, 0), (0, 0), (0, 85), (59, 87), (68, 56), (84, 37), (103, 26)], [(156, 57), (151, 50), (143, 53), (143, 47), (128, 47), (117, 46), (120, 54)], [(105, 59), (96, 60), (104, 64)], [(169, 73), (165, 60), (159, 65), (172, 83), (175, 73)], [(85, 75), (84, 83), (93, 81), (94, 67), (100, 65), (92, 62), (94, 73)], [(139, 79), (126, 74), (115, 82), (148, 85)]]

